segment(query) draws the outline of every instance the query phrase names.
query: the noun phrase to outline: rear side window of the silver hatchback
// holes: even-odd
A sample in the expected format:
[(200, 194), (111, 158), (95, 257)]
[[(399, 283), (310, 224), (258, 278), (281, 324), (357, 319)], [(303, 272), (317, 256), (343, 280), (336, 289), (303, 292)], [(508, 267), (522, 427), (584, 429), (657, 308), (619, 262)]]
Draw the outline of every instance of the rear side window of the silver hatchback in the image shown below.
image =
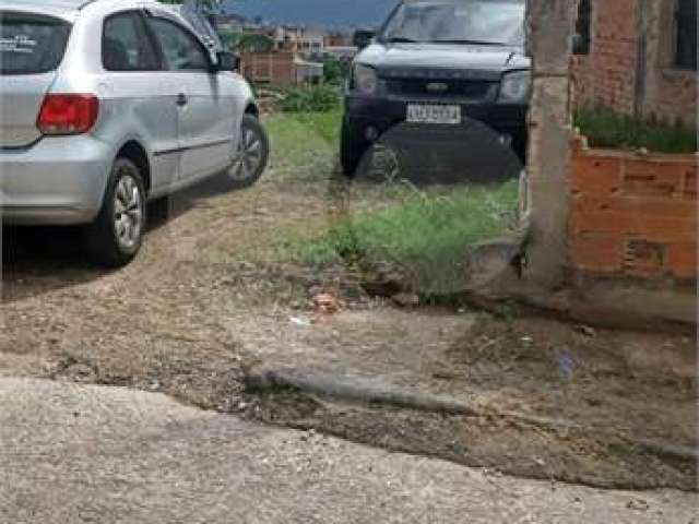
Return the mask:
[(135, 12), (109, 16), (102, 37), (102, 63), (107, 71), (159, 71), (161, 61), (143, 19)]

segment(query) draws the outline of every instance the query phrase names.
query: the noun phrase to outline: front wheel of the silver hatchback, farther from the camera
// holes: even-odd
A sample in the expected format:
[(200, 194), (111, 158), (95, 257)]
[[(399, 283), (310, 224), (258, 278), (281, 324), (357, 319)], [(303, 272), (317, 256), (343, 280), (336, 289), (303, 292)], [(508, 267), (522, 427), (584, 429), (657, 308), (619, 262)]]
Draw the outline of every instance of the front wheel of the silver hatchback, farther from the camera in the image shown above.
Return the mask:
[(260, 120), (245, 115), (240, 124), (238, 158), (226, 171), (230, 189), (253, 186), (264, 172), (270, 157), (270, 140)]

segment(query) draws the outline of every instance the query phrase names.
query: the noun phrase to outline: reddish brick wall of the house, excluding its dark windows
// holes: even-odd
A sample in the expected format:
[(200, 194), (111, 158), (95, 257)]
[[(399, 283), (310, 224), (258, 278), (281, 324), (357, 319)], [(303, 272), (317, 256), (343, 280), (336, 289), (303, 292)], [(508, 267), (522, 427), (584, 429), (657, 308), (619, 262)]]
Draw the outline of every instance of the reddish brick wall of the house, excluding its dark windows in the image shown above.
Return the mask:
[[(645, 2), (642, 23), (641, 0), (592, 0), (590, 53), (572, 60), (577, 106), (604, 105), (628, 115), (637, 109), (645, 117), (696, 126), (697, 73), (673, 66), (674, 1)], [(643, 78), (637, 82), (639, 74)]]

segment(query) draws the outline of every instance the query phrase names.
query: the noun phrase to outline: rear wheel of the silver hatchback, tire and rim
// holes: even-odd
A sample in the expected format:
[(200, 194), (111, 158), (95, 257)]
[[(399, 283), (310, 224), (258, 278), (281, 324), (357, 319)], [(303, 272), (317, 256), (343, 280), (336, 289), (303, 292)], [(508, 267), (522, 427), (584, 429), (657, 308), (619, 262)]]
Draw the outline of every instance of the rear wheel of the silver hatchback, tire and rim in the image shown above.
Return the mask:
[(139, 167), (117, 158), (97, 218), (85, 228), (92, 260), (105, 267), (130, 263), (141, 249), (146, 223), (146, 193)]

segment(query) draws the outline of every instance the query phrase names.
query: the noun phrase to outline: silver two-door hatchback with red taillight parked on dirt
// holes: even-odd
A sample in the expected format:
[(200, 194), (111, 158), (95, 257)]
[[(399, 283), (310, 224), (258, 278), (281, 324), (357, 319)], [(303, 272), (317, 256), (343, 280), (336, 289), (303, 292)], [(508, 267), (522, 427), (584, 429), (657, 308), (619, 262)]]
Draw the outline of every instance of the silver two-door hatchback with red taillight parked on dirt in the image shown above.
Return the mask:
[(252, 91), (202, 22), (144, 0), (0, 0), (4, 224), (84, 224), (95, 260), (119, 266), (147, 200), (257, 181), (269, 142)]

